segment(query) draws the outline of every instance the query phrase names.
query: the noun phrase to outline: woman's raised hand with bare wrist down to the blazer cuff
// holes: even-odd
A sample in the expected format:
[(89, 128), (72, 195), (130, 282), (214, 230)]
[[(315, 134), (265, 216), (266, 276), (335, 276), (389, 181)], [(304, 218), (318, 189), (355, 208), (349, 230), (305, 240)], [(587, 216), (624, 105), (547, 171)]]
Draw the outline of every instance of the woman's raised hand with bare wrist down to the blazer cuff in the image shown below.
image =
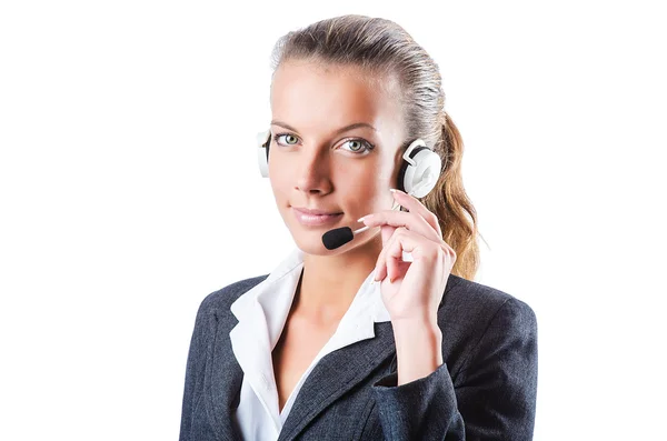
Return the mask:
[[(382, 301), (391, 317), (398, 362), (397, 385), (421, 379), (444, 363), (438, 305), (456, 262), (442, 240), (438, 219), (416, 198), (394, 191), (409, 212), (386, 210), (365, 216), (368, 227), (380, 227), (382, 251), (376, 263)], [(402, 253), (412, 254), (411, 262)]]

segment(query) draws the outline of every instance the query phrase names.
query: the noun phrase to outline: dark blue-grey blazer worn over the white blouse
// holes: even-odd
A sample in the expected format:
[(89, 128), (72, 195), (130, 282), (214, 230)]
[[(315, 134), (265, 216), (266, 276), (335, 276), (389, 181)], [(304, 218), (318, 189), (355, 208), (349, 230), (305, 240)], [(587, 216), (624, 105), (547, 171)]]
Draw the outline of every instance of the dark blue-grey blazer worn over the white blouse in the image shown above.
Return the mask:
[[(240, 440), (231, 418), (243, 372), (229, 331), (229, 307), (268, 274), (209, 294), (190, 342), (180, 441)], [(376, 337), (325, 355), (310, 372), (282, 427), (282, 440), (532, 439), (537, 323), (526, 303), (449, 275), (438, 309), (445, 363), (397, 387), (391, 322)]]

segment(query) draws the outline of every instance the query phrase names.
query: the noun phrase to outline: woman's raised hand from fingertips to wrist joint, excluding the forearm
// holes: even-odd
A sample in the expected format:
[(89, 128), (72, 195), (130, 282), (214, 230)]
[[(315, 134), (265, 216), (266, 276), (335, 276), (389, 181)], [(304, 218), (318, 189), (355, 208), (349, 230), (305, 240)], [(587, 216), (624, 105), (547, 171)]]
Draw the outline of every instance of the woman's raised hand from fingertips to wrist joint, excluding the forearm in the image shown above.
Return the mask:
[[(395, 200), (409, 212), (385, 210), (365, 216), (368, 227), (380, 227), (382, 251), (376, 263), (385, 307), (392, 323), (437, 327), (438, 305), (456, 262), (456, 252), (442, 240), (437, 217), (419, 200), (394, 191)], [(402, 261), (402, 252), (412, 262)]]

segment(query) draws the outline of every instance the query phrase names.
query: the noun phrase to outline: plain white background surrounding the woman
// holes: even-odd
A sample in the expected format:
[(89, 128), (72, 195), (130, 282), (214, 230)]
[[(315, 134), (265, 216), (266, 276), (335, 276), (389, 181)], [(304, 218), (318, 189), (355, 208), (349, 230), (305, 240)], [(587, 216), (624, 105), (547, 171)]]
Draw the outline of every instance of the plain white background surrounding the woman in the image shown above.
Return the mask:
[(532, 307), (536, 440), (659, 439), (659, 2), (4, 1), (0, 439), (173, 440), (206, 294), (292, 242), (256, 162), (276, 39), (361, 13), (439, 63), (476, 281)]

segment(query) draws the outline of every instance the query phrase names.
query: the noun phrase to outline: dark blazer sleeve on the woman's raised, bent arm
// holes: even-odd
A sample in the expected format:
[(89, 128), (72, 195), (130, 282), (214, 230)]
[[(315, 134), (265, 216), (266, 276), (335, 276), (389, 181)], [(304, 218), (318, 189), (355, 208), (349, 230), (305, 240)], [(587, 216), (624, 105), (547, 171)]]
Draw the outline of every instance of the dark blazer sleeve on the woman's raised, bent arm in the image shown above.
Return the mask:
[(374, 387), (387, 440), (532, 440), (537, 321), (510, 298), (489, 321), (456, 381), (441, 364), (397, 387), (396, 372)]

